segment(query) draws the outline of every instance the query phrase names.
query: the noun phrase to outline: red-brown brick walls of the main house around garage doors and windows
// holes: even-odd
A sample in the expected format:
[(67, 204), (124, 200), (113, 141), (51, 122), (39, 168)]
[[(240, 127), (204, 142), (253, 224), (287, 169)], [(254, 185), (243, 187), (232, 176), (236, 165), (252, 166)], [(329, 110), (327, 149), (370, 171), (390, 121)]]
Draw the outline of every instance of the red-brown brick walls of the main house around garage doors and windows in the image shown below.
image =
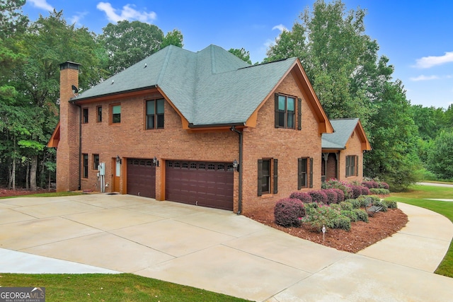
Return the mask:
[[(275, 128), (274, 96), (271, 95), (258, 111), (256, 128), (243, 133), (243, 213), (275, 204), (278, 199), (297, 191), (297, 158), (314, 158), (313, 189), (321, 187), (321, 136), (318, 122), (304, 100), (292, 74), (277, 87), (277, 93), (302, 98), (302, 131)], [(239, 161), (239, 135), (235, 132), (188, 132), (182, 129), (181, 119), (169, 103), (165, 103), (165, 128), (145, 129), (145, 100), (160, 98), (158, 91), (134, 98), (93, 102), (88, 108), (88, 123), (82, 124), (82, 153), (88, 153), (88, 178), (81, 180), (83, 190), (96, 190), (97, 170), (93, 169), (93, 154), (105, 162), (105, 182), (110, 192), (116, 156), (122, 158), (120, 192), (126, 193), (126, 158), (156, 158), (156, 199), (164, 199), (165, 161)], [(120, 103), (121, 123), (110, 124), (110, 104)], [(72, 107), (71, 107), (72, 106)], [(102, 106), (103, 121), (96, 122), (96, 107)], [(71, 110), (79, 110), (69, 105)], [(66, 111), (64, 111), (66, 112)], [(297, 116), (297, 114), (296, 114)], [(64, 118), (62, 117), (62, 120)], [(76, 132), (74, 132), (76, 133)], [(62, 141), (60, 141), (62, 144)], [(75, 143), (74, 143), (75, 144)], [(60, 148), (60, 147), (59, 147)], [(67, 150), (67, 149), (62, 149)], [(75, 157), (78, 158), (78, 157)], [(257, 196), (257, 161), (259, 158), (278, 159), (278, 193)], [(74, 163), (73, 163), (74, 164)], [(76, 166), (76, 165), (75, 165)], [(238, 209), (239, 173), (234, 173), (234, 211)], [(311, 189), (304, 189), (311, 190)]]

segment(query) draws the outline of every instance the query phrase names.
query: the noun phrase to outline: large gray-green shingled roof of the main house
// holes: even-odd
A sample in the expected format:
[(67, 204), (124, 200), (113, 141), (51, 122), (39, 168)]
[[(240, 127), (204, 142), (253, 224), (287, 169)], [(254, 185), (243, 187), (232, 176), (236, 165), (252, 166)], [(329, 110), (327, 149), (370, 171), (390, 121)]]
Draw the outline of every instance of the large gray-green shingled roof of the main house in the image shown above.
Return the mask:
[(250, 66), (215, 45), (200, 52), (170, 45), (81, 93), (77, 100), (159, 86), (195, 126), (243, 123), (295, 60)]

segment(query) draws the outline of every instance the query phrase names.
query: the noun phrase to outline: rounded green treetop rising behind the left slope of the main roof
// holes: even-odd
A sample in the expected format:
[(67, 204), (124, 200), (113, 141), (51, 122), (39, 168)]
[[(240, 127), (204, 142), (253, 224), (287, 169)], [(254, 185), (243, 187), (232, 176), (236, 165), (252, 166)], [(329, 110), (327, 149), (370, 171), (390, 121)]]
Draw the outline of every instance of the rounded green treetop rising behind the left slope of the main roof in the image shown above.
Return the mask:
[[(174, 37), (178, 38), (178, 33), (176, 30), (168, 34), (168, 42)], [(164, 33), (156, 25), (118, 21), (117, 24), (108, 23), (103, 28), (100, 40), (108, 54), (107, 69), (110, 74), (117, 74), (157, 52), (164, 40)]]

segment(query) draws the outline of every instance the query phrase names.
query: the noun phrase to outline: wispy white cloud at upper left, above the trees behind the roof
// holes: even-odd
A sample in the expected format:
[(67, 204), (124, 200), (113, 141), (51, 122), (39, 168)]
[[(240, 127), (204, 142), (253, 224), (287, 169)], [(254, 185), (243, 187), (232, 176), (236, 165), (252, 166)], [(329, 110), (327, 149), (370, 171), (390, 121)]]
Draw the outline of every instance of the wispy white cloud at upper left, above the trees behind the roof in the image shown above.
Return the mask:
[(99, 2), (96, 8), (98, 8), (99, 11), (105, 12), (108, 20), (111, 22), (138, 20), (144, 23), (151, 23), (156, 20), (156, 13), (154, 13), (154, 11), (151, 11), (150, 13), (147, 13), (146, 11), (137, 11), (132, 8), (132, 6), (131, 4), (126, 4), (119, 10), (113, 8), (108, 2)]

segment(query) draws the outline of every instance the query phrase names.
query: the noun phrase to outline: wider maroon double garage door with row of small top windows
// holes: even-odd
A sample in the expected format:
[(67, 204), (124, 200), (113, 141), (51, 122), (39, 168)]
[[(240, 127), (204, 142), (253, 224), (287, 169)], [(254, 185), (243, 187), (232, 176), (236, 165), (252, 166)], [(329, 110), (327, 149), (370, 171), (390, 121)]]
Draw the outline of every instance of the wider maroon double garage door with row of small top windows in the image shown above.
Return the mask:
[(166, 162), (166, 199), (202, 207), (233, 210), (231, 163)]

